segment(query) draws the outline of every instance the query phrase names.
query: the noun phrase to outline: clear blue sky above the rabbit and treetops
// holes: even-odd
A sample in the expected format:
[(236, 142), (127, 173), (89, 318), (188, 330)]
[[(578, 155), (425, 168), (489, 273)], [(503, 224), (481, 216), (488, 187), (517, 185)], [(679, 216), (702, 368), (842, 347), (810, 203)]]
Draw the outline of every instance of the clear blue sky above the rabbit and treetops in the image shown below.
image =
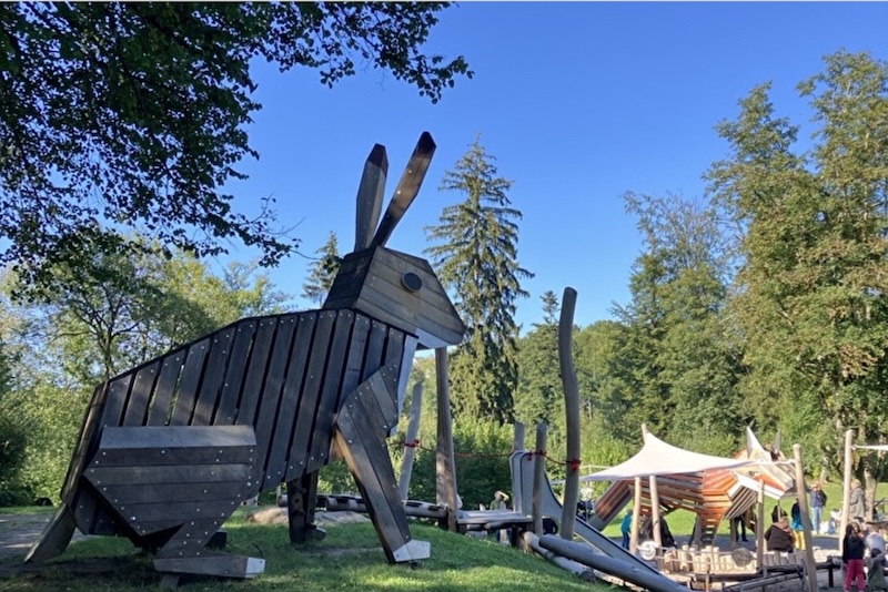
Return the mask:
[[(423, 228), (464, 198), (438, 192), (442, 175), (480, 133), (524, 214), (518, 258), (536, 277), (525, 283), (518, 321), (526, 330), (542, 317), (545, 290), (561, 296), (572, 286), (585, 326), (629, 298), (642, 243), (623, 193), (703, 195), (700, 175), (727, 150), (713, 126), (768, 80), (778, 112), (808, 123), (795, 86), (840, 48), (888, 59), (888, 3), (466, 2), (442, 13), (427, 50), (465, 55), (475, 78), (436, 105), (381, 71), (327, 89), (314, 71), (259, 64), (264, 108), (249, 131), (261, 157), (244, 163), (251, 178), (231, 188), (246, 212), (274, 195), (282, 222), (299, 223), (302, 253), (313, 256), (330, 231), (347, 253), (371, 147), (389, 150), (387, 202), (427, 130), (437, 152), (389, 243), (421, 254)], [(294, 255), (271, 276), (299, 295), (307, 268)]]

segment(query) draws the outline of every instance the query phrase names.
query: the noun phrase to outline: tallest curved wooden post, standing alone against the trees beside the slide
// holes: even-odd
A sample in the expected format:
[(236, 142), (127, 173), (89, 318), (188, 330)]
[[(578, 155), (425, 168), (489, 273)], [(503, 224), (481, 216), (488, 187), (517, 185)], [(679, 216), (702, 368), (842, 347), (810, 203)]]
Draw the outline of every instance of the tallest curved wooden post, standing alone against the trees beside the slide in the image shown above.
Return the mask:
[(558, 366), (564, 387), (565, 426), (567, 428), (567, 469), (564, 479), (561, 534), (573, 540), (576, 523), (576, 502), (579, 497), (579, 387), (572, 353), (576, 290), (564, 288), (562, 314), (558, 319)]

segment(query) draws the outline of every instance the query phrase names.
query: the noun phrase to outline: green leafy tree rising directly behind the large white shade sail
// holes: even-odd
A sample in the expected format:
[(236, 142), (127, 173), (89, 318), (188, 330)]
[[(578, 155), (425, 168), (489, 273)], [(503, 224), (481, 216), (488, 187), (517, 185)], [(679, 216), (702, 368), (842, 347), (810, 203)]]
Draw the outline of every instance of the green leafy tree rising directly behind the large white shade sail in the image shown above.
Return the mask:
[(629, 279), (623, 379), (632, 416), (678, 446), (730, 453), (743, 435), (738, 356), (724, 329), (725, 248), (716, 212), (698, 201), (626, 194), (645, 251)]

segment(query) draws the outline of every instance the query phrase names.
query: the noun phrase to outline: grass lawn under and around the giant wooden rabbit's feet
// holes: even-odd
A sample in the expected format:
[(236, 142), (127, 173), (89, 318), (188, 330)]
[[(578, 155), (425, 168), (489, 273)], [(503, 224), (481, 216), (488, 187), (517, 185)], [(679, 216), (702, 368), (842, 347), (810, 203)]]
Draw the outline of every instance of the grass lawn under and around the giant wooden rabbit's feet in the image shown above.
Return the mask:
[[(3, 510), (4, 512), (7, 509)], [(604, 591), (545, 560), (487, 540), (412, 524), (414, 537), (432, 542), (432, 558), (415, 567), (390, 565), (373, 525), (337, 524), (326, 538), (301, 550), (289, 543), (285, 525), (248, 523), (239, 511), (226, 523), (228, 551), (266, 560), (254, 580), (182, 578), (184, 590), (300, 590), (512, 592), (514, 590)], [(149, 555), (127, 539), (93, 538), (77, 542), (59, 558), (40, 565), (21, 565), (22, 557), (0, 560), (0, 591), (64, 590), (71, 592), (159, 589), (160, 574)]]

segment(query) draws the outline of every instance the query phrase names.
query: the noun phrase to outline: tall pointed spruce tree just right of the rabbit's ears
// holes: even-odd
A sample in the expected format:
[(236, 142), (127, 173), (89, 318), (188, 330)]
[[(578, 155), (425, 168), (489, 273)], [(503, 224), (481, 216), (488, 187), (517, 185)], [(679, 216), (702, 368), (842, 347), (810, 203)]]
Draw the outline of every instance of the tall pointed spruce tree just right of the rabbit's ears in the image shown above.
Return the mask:
[(425, 252), (467, 327), (467, 339), (451, 361), (456, 412), (511, 421), (517, 386), (517, 299), (521, 280), (533, 277), (517, 261), (522, 213), (511, 207), (512, 181), (498, 176), (495, 159), (476, 137), (444, 174), (441, 191), (465, 195), (426, 228), (436, 245)]

